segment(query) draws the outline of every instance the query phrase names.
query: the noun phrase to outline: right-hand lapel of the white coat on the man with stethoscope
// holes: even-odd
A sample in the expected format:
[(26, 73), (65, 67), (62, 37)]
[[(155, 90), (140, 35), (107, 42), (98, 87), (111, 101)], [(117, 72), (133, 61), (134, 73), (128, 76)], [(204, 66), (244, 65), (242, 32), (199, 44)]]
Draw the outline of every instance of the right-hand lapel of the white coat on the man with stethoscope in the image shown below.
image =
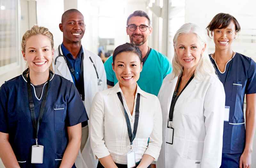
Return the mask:
[[(87, 88), (89, 82), (91, 81), (90, 80), (91, 76), (95, 75), (95, 77), (93, 76), (93, 78), (97, 79), (97, 74), (93, 67), (93, 63), (91, 62), (91, 60), (89, 58), (90, 53), (84, 47), (83, 47), (83, 50), (84, 50), (84, 61), (83, 61), (83, 64), (84, 64), (84, 93), (86, 93), (86, 88)], [(92, 61), (93, 61), (93, 58), (92, 58)]]

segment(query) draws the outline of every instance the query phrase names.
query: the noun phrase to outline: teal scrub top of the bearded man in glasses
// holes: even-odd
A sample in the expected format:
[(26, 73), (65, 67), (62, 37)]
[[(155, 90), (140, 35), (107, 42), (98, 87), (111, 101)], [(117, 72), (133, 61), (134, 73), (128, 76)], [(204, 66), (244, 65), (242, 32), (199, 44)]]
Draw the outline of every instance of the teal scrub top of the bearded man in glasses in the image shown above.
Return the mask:
[[(104, 63), (107, 83), (114, 86), (118, 80), (112, 69), (112, 56)], [(148, 93), (158, 95), (164, 77), (172, 72), (172, 64), (170, 60), (163, 54), (151, 49), (148, 58), (143, 62), (143, 68), (140, 72), (140, 78), (137, 81), (140, 89)]]

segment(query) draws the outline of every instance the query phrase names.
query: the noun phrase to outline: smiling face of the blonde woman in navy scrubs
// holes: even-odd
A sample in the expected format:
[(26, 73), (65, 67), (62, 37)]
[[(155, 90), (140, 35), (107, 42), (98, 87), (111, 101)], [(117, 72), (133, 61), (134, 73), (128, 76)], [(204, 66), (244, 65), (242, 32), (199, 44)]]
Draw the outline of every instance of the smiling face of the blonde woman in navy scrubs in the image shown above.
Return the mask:
[(52, 64), (54, 50), (47, 36), (34, 35), (27, 39), (23, 59), (28, 62), (29, 73), (49, 76), (49, 67)]

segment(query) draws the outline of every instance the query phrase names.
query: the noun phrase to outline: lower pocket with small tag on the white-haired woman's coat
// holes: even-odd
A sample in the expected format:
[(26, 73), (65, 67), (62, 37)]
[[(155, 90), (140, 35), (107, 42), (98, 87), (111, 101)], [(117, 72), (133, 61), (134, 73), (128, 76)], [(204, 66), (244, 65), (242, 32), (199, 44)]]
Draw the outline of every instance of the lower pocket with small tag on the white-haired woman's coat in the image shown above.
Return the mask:
[(173, 168), (201, 168), (202, 160), (190, 160), (177, 155)]

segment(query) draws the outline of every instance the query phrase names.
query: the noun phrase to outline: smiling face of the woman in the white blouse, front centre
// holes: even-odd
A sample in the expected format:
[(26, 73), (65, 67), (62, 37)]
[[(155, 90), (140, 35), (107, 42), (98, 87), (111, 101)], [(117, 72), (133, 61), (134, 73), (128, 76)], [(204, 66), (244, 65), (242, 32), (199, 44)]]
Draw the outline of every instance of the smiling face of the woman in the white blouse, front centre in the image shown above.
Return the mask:
[(112, 67), (119, 85), (136, 86), (142, 71), (142, 62), (140, 62), (139, 56), (132, 52), (122, 52), (116, 55), (114, 63), (112, 63)]

